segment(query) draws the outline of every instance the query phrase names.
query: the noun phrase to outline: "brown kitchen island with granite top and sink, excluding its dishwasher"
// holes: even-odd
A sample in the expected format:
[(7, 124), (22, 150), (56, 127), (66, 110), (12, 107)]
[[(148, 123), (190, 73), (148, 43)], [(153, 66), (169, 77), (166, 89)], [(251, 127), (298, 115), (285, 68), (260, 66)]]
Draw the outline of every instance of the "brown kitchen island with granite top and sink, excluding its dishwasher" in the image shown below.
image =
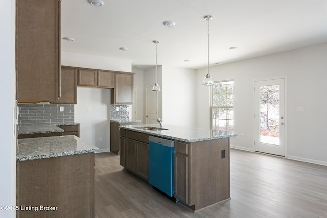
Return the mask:
[(229, 138), (242, 134), (167, 124), (120, 126), (120, 164), (146, 182), (150, 135), (174, 140), (179, 203), (196, 212), (230, 199)]

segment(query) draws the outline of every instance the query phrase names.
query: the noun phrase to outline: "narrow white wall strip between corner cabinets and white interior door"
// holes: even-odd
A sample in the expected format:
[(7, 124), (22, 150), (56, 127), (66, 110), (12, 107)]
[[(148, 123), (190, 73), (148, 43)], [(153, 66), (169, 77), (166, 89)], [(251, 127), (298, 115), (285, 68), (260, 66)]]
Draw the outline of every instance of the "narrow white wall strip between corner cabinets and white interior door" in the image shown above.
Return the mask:
[[(137, 87), (137, 117), (134, 119), (141, 120), (139, 124), (144, 124), (144, 77), (143, 77), (143, 70), (139, 69), (132, 69), (134, 72), (134, 86)], [(134, 107), (135, 104), (132, 105)]]

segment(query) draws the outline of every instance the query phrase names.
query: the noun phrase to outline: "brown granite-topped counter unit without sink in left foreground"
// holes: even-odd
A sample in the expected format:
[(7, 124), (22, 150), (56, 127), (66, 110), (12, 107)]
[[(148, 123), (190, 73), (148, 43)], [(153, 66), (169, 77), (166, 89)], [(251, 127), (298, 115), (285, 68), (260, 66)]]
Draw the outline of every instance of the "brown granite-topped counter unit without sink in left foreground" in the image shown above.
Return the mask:
[(17, 217), (95, 217), (96, 151), (74, 135), (18, 139)]

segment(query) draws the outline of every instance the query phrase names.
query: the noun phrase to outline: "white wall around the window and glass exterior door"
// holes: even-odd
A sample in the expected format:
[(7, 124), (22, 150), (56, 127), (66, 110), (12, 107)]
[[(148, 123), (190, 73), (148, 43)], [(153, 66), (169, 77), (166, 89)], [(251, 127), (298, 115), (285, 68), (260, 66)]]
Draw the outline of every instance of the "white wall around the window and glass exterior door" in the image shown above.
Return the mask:
[[(235, 130), (243, 136), (231, 138), (233, 146), (253, 150), (253, 81), (287, 77), (286, 157), (327, 165), (327, 43), (289, 52), (211, 67), (215, 81), (235, 81)], [(198, 127), (209, 127), (209, 88), (201, 81), (206, 69), (197, 70)], [(297, 107), (303, 106), (304, 112)], [(202, 108), (202, 110), (201, 110)]]

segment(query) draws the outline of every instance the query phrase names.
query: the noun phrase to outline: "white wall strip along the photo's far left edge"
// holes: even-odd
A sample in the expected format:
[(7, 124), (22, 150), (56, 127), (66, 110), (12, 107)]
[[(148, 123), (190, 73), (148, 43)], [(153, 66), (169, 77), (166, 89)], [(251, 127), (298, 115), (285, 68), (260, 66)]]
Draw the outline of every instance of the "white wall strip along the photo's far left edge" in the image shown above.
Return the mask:
[[(0, 205), (16, 205), (16, 135), (14, 135), (13, 109), (15, 108), (15, 9), (16, 1), (3, 1), (0, 8)], [(15, 211), (0, 211), (1, 217), (16, 217)]]

